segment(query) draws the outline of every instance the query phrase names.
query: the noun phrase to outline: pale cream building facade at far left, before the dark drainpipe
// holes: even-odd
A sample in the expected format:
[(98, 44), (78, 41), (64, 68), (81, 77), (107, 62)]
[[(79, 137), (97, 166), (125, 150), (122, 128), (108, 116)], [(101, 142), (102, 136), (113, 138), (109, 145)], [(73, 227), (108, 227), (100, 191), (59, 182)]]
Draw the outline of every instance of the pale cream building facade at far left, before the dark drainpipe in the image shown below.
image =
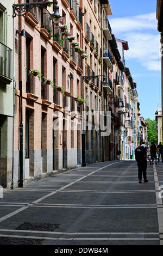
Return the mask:
[(13, 174), (14, 19), (12, 3), (0, 1), (0, 185), (10, 186)]

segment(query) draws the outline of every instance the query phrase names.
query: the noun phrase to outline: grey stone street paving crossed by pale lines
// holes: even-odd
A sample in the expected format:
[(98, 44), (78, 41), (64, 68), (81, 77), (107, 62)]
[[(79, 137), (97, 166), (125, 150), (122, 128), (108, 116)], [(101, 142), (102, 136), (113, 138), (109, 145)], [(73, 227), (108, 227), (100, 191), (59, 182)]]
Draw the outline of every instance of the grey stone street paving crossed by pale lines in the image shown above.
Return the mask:
[(139, 184), (136, 161), (101, 162), (4, 191), (0, 245), (163, 245), (162, 168)]

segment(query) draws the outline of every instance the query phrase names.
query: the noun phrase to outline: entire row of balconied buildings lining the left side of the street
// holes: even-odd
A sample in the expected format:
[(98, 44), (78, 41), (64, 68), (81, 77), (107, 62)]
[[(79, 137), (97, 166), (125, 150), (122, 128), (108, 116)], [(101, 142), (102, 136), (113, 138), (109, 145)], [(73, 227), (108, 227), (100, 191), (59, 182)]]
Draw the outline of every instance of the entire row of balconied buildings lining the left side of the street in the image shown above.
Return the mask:
[(59, 23), (55, 4), (40, 2), (13, 1), (35, 3), (20, 16), (8, 1), (1, 11), (1, 57), (6, 49), (12, 56), (0, 68), (4, 187), (116, 160), (117, 149), (121, 159), (134, 159), (137, 145), (147, 142), (136, 83), (124, 59), (128, 42), (112, 33), (109, 1), (61, 0)]

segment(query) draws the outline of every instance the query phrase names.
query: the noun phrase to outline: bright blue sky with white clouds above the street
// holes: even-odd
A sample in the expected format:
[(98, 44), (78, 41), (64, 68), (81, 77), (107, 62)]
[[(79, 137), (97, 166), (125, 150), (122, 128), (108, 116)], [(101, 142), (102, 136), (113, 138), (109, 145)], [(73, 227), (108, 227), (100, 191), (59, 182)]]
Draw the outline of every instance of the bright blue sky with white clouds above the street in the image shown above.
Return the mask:
[(128, 41), (124, 51), (126, 66), (137, 83), (141, 116), (155, 118), (161, 107), (160, 33), (156, 20), (156, 0), (109, 0), (108, 16), (115, 38)]

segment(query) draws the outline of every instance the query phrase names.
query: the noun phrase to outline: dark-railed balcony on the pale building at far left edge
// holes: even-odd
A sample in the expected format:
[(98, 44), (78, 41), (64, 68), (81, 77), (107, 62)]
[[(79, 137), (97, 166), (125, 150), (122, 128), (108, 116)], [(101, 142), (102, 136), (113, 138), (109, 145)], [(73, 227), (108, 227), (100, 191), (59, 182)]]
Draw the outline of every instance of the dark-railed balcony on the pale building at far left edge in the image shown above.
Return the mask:
[(0, 80), (5, 84), (12, 81), (12, 50), (0, 42)]

